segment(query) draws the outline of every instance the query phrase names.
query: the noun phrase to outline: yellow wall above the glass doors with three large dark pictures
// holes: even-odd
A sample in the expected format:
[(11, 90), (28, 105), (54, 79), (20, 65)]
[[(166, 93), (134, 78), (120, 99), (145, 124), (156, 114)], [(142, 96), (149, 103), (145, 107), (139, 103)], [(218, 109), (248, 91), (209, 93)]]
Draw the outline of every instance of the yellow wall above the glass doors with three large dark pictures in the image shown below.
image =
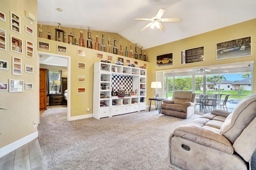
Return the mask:
[[(186, 39), (181, 39), (179, 41), (174, 41), (157, 47), (152, 47), (146, 49), (149, 54), (149, 64), (147, 69), (147, 74), (152, 75), (147, 77), (147, 97), (154, 96), (154, 90), (150, 90), (150, 82), (156, 80), (156, 70), (168, 70), (168, 69), (178, 69), (178, 68), (188, 68), (188, 67), (205, 67), (217, 64), (229, 64), (229, 63), (239, 63), (243, 61), (255, 61), (256, 57), (256, 19), (189, 37)], [(238, 57), (232, 59), (216, 60), (216, 43), (223, 41), (228, 41), (231, 39), (238, 39), (241, 37), (252, 36), (252, 55), (247, 57)], [(181, 64), (181, 51), (186, 49), (192, 49), (196, 47), (204, 46), (205, 61), (202, 63), (192, 63), (192, 64)], [(173, 53), (173, 66), (166, 67), (156, 67), (156, 56), (166, 53)], [(256, 72), (256, 67), (254, 66), (254, 73)], [(254, 74), (254, 93), (256, 92), (256, 74)]]

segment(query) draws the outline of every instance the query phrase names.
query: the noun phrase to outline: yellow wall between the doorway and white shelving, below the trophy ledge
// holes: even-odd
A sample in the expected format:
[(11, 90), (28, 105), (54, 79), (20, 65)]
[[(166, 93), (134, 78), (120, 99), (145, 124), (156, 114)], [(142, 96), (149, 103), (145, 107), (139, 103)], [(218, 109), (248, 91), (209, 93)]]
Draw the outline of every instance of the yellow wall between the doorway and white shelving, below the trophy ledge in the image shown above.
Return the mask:
[[(126, 64), (126, 59), (129, 59), (131, 63), (134, 61), (138, 61), (138, 66), (143, 66), (144, 63), (148, 64), (146, 61), (140, 61), (120, 55), (114, 55), (110, 53), (106, 53), (103, 51), (98, 51), (94, 49), (88, 49), (86, 47), (79, 47), (76, 45), (71, 45), (68, 43), (63, 43), (55, 40), (49, 40), (45, 38), (38, 37), (38, 41), (46, 42), (50, 44), (50, 51), (45, 51), (38, 49), (38, 51), (47, 52), (47, 53), (54, 53), (60, 55), (71, 56), (71, 85), (70, 85), (70, 117), (80, 116), (80, 115), (87, 115), (92, 114), (92, 105), (93, 105), (93, 64), (95, 62), (99, 62), (100, 59), (97, 59), (97, 53), (103, 54), (103, 59), (107, 59), (107, 55), (113, 56), (113, 61), (118, 61), (118, 57), (124, 59), (124, 65)], [(67, 47), (67, 53), (57, 53), (57, 45), (63, 45)], [(77, 49), (82, 49), (86, 51), (86, 57), (80, 57), (77, 55)], [(86, 70), (78, 69), (78, 62), (79, 63), (86, 63)], [(138, 67), (137, 66), (137, 67)], [(77, 82), (77, 76), (84, 75), (86, 76), (86, 82), (81, 83)], [(85, 95), (78, 95), (77, 88), (86, 88)], [(87, 108), (90, 108), (90, 111), (86, 111)]]

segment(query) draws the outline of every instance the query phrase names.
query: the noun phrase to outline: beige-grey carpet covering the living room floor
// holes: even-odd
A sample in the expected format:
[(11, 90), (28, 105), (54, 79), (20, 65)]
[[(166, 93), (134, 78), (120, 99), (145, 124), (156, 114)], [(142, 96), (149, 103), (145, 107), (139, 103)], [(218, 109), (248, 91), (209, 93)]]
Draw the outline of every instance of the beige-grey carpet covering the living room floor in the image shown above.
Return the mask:
[(66, 109), (40, 111), (38, 141), (48, 170), (180, 170), (169, 163), (168, 136), (200, 117), (180, 119), (154, 110), (67, 121)]

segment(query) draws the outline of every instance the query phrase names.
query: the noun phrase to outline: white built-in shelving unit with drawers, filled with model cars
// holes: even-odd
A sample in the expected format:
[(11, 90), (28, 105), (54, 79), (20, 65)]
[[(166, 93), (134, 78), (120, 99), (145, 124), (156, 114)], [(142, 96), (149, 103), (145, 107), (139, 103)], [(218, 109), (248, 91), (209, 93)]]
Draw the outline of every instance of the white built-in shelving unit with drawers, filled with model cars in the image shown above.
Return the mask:
[[(123, 96), (120, 95), (122, 92)], [(146, 69), (94, 63), (94, 118), (142, 110), (146, 110)]]

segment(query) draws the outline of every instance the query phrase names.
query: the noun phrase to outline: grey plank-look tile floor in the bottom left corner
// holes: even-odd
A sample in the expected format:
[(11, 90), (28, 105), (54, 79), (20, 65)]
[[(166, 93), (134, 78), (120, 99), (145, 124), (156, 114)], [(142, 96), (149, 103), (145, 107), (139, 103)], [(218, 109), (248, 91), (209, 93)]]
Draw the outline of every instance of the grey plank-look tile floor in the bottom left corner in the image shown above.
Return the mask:
[(47, 170), (38, 139), (0, 158), (1, 170)]

